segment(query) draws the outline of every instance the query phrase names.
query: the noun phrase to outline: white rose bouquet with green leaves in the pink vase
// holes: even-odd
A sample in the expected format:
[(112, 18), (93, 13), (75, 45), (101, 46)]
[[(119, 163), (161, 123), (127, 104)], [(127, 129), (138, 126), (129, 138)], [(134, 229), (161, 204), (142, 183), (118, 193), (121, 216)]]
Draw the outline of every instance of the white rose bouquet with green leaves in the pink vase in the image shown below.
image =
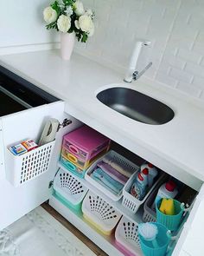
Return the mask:
[(43, 10), (48, 30), (55, 29), (62, 33), (73, 33), (82, 43), (86, 43), (94, 33), (92, 10), (85, 10), (79, 0), (58, 0)]

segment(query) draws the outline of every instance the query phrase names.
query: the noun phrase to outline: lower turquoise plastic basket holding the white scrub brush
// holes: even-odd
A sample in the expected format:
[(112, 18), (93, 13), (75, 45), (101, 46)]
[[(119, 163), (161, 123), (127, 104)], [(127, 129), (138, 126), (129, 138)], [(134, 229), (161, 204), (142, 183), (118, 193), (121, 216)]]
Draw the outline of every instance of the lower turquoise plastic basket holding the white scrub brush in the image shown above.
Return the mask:
[(169, 246), (169, 241), (171, 236), (168, 233), (168, 229), (163, 224), (157, 222), (150, 222), (157, 226), (158, 233), (156, 235), (156, 241), (158, 243), (158, 247), (154, 247), (151, 241), (144, 240), (143, 237), (138, 234), (140, 240), (141, 250), (143, 255), (145, 256), (164, 256), (167, 253), (167, 249)]

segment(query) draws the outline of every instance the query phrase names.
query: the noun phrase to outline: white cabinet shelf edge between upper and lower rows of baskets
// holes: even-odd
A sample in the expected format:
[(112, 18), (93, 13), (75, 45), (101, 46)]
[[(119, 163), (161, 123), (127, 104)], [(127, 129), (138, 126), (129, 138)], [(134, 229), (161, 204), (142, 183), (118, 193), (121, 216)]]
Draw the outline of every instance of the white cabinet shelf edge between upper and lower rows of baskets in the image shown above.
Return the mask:
[[(66, 167), (63, 167), (60, 162), (58, 162), (58, 167), (61, 167), (63, 170), (65, 170), (67, 173), (70, 173)], [(129, 220), (135, 221), (137, 223), (143, 222), (142, 217), (143, 217), (143, 207), (140, 207), (137, 211), (137, 213), (131, 213), (129, 210), (127, 210), (123, 205), (122, 205), (122, 199), (118, 201), (112, 200), (110, 197), (105, 195), (103, 192), (101, 192), (97, 187), (92, 186), (91, 183), (86, 181), (83, 178), (80, 178), (77, 175), (74, 175), (73, 173), (70, 173), (76, 178), (78, 181), (81, 182), (85, 187), (87, 187), (89, 190), (92, 191), (92, 193), (99, 195), (103, 200), (105, 200), (107, 203), (109, 203), (112, 207), (116, 208), (119, 213), (123, 214), (126, 218)]]

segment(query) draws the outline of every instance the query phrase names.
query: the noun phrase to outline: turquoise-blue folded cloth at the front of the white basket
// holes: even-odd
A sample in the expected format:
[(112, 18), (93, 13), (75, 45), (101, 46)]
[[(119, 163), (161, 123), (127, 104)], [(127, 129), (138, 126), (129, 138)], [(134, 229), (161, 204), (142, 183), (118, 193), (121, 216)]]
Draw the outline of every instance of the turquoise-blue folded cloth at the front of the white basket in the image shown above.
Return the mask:
[(94, 169), (91, 176), (94, 178), (94, 180), (97, 179), (101, 181), (105, 185), (105, 187), (111, 188), (112, 191), (114, 191), (116, 194), (119, 194), (124, 187), (123, 184), (112, 179), (112, 177), (110, 177), (108, 174), (105, 174), (105, 172), (99, 167)]

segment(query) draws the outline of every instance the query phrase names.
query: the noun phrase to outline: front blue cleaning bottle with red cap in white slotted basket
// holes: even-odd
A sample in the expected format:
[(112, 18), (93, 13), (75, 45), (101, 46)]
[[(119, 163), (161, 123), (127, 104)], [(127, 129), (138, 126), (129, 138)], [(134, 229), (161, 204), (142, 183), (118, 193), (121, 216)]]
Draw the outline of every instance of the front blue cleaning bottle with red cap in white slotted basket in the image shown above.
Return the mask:
[(142, 172), (137, 174), (136, 180), (131, 186), (131, 195), (136, 197), (138, 200), (143, 200), (148, 188), (148, 168), (144, 168)]

